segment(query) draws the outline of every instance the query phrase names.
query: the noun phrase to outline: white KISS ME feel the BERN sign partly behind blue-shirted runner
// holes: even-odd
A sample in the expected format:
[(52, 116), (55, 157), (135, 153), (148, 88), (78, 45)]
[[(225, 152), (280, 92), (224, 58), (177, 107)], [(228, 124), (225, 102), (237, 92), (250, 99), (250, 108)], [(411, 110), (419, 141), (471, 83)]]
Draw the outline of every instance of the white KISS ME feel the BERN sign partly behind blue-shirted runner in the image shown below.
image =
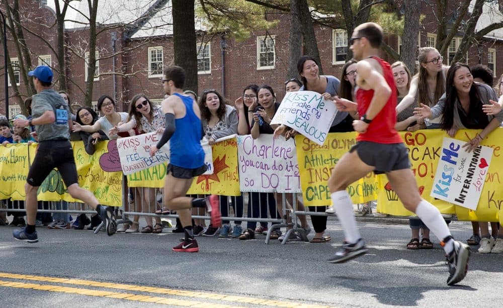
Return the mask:
[[(154, 156), (150, 156), (150, 147), (159, 142), (161, 134), (152, 132), (133, 137), (117, 139), (117, 149), (121, 160), (122, 172), (125, 175), (170, 162), (170, 142), (163, 145)], [(213, 173), (213, 157), (208, 143), (202, 143), (204, 163), (208, 170), (204, 174)]]

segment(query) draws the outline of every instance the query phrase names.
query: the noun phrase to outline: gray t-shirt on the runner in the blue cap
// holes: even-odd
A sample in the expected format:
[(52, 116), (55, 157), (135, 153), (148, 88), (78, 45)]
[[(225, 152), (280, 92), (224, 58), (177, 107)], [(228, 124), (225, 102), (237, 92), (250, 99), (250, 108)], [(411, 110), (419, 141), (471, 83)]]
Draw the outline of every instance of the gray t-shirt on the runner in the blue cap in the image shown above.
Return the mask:
[(59, 93), (53, 89), (42, 90), (33, 95), (32, 118), (39, 118), (48, 110), (54, 112), (56, 121), (51, 124), (35, 125), (38, 141), (69, 140), (68, 120), (71, 119), (70, 108)]

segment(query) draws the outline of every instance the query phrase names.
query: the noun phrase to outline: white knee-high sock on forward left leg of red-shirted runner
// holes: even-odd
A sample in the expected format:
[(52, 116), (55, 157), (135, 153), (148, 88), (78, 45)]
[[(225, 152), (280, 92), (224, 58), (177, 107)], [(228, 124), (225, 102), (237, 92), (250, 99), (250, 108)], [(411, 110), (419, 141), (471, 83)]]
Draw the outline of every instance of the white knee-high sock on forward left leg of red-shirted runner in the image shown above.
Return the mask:
[(333, 209), (336, 210), (337, 218), (344, 229), (344, 236), (349, 243), (356, 243), (360, 238), (360, 231), (356, 227), (353, 202), (346, 190), (339, 190), (330, 194)]

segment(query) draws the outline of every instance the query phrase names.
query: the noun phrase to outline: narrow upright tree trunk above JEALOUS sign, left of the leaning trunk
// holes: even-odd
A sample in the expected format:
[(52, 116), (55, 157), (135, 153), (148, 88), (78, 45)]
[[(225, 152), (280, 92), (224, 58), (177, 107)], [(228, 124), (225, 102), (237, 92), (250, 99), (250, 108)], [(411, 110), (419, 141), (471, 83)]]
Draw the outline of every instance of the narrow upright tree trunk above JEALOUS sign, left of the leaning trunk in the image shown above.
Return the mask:
[(300, 30), (299, 19), (299, 0), (290, 0), (290, 46), (289, 46), (289, 61), (287, 80), (290, 78), (298, 78), (297, 61), (299, 60), (302, 49), (302, 36)]

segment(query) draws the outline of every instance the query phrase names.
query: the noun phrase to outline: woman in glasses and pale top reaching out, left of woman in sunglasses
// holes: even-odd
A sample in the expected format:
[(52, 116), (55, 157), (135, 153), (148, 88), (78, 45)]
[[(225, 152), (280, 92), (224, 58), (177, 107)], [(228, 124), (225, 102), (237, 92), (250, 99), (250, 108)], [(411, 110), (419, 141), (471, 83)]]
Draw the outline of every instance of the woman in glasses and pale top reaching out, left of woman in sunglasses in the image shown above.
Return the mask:
[(128, 114), (125, 112), (116, 112), (115, 101), (109, 95), (102, 95), (98, 99), (98, 110), (105, 116), (98, 119), (98, 121), (96, 121), (93, 125), (80, 125), (77, 122), (73, 122), (73, 131), (94, 133), (102, 130), (105, 134), (107, 134), (108, 139), (110, 140), (119, 138), (117, 134), (111, 135), (109, 131), (120, 122), (126, 122)]

